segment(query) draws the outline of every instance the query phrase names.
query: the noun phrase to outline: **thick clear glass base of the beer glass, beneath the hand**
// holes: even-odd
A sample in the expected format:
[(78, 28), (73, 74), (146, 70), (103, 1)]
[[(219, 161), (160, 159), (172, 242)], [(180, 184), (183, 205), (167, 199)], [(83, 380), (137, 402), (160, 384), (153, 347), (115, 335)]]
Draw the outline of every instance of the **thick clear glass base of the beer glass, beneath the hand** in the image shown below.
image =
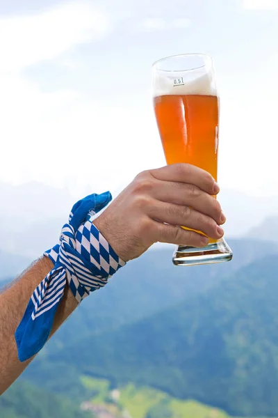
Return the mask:
[(224, 263), (225, 261), (231, 261), (232, 258), (233, 253), (227, 242), (222, 238), (202, 248), (180, 245), (174, 251), (172, 261), (174, 265), (200, 265)]

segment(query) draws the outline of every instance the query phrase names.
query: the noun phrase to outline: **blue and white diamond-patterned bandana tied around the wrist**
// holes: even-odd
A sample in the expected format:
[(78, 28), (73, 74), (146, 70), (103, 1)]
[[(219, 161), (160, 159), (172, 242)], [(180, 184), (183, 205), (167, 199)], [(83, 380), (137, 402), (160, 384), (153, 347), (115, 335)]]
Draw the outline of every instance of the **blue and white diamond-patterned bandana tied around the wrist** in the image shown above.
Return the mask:
[(80, 303), (126, 264), (92, 224), (92, 216), (111, 199), (110, 192), (106, 192), (78, 201), (63, 226), (60, 244), (45, 251), (44, 256), (51, 259), (54, 268), (35, 288), (15, 332), (21, 362), (38, 353), (47, 342), (67, 283)]

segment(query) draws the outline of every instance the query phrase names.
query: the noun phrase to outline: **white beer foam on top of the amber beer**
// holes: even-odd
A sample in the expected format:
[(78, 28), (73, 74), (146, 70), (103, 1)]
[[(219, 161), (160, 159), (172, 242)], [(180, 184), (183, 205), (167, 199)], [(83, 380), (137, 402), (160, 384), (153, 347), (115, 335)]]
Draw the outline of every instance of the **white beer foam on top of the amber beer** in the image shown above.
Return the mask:
[(187, 72), (156, 70), (153, 95), (217, 95), (213, 70), (205, 74), (204, 68)]

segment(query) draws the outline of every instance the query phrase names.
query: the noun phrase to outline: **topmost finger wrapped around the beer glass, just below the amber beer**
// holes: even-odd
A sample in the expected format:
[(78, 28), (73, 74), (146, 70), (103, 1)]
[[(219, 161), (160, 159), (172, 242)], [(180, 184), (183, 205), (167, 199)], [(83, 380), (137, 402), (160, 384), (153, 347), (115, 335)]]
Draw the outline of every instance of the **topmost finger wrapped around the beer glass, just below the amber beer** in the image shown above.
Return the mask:
[(220, 191), (210, 173), (190, 164), (171, 164), (149, 172), (158, 180), (190, 183), (211, 195), (218, 194)]

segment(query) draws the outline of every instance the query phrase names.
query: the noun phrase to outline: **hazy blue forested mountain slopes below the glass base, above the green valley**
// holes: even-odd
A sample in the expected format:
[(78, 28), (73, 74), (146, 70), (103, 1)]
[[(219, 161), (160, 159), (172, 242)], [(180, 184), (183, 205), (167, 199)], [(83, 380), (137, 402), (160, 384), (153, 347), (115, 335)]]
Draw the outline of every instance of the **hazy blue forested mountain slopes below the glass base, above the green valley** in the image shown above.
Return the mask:
[(130, 263), (81, 304), (24, 378), (76, 405), (90, 397), (83, 373), (234, 415), (277, 415), (278, 263), (240, 270), (263, 253), (257, 242), (234, 249), (225, 265), (174, 268), (171, 251)]

